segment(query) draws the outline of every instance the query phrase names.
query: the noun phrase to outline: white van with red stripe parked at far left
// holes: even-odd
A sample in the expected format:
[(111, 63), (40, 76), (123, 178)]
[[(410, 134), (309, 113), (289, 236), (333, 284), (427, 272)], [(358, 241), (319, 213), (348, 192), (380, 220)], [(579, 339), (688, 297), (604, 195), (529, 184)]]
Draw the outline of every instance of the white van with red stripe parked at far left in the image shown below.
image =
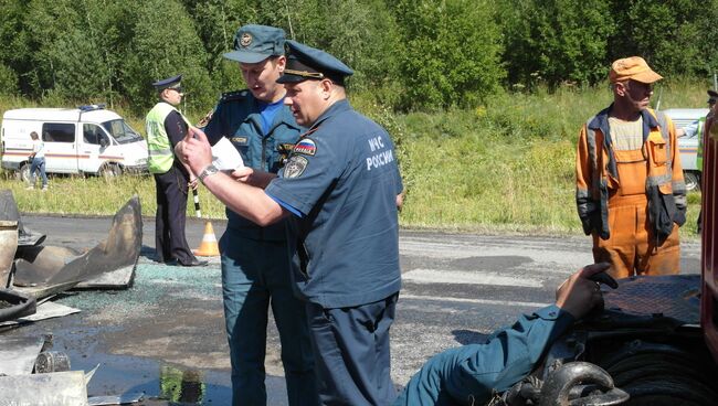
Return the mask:
[(147, 171), (147, 142), (104, 105), (78, 108), (20, 108), (2, 116), (2, 168), (30, 175), (30, 132), (45, 143), (47, 173), (115, 177)]

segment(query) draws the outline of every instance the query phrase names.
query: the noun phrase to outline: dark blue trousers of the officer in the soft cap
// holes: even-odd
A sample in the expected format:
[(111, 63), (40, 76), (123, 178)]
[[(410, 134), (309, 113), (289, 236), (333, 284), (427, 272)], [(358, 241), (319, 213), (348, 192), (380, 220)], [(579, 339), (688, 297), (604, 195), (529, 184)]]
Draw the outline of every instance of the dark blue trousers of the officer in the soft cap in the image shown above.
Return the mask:
[(272, 306), (289, 405), (317, 405), (306, 314), (292, 289), (286, 242), (246, 238), (228, 228), (220, 247), (232, 404), (266, 404), (264, 359), (267, 311)]

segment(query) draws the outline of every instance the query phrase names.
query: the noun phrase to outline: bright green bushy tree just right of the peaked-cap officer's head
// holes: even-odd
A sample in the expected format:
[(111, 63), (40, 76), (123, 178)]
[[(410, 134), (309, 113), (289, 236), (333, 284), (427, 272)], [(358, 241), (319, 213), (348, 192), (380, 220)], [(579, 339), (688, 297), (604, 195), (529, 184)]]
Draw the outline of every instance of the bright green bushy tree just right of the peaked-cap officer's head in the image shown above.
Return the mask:
[(402, 46), (395, 52), (403, 108), (474, 106), (504, 78), (492, 1), (398, 0), (390, 8)]

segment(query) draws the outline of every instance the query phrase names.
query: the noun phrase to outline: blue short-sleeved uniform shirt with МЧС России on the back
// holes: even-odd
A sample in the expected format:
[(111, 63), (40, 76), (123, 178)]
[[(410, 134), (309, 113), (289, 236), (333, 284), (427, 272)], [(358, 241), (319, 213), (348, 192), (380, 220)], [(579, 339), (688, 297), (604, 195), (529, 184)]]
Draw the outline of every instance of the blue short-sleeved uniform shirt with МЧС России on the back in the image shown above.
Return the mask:
[(329, 107), (296, 143), (266, 193), (295, 213), (303, 266), (298, 295), (324, 308), (371, 303), (399, 291), (393, 143), (347, 100)]

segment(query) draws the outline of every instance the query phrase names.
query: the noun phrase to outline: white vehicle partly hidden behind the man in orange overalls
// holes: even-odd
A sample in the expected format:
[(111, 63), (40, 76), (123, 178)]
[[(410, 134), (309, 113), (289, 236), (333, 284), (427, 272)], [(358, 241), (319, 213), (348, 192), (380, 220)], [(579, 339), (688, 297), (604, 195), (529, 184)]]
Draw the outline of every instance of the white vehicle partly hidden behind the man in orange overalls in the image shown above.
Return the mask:
[(691, 126), (700, 118), (706, 117), (708, 114), (707, 108), (669, 108), (663, 110), (676, 126), (676, 129), (684, 128), (685, 135), (678, 138), (678, 150), (680, 152), (680, 165), (683, 167), (683, 175), (686, 179), (686, 189), (698, 190), (700, 189), (700, 168), (696, 165), (696, 156), (698, 152), (698, 136)]

